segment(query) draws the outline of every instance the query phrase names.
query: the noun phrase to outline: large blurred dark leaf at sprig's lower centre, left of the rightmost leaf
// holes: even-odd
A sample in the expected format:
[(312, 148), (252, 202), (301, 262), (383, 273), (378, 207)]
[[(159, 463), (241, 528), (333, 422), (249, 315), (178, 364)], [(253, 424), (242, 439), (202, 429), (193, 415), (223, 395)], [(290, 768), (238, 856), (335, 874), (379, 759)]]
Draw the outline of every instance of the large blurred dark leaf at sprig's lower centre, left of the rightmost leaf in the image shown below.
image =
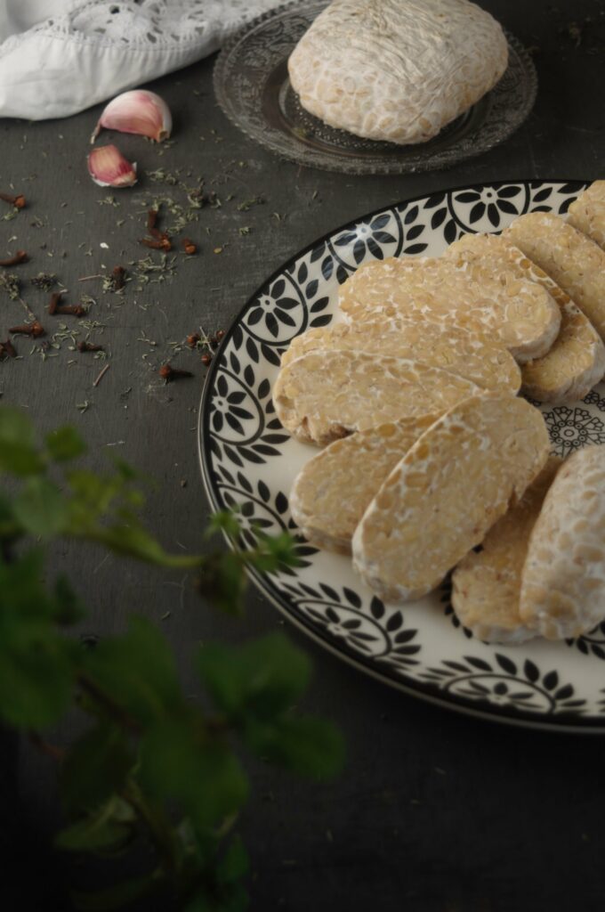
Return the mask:
[(140, 744), (140, 781), (179, 802), (196, 828), (208, 830), (239, 811), (248, 796), (240, 762), (226, 744), (195, 724), (191, 712), (160, 721)]

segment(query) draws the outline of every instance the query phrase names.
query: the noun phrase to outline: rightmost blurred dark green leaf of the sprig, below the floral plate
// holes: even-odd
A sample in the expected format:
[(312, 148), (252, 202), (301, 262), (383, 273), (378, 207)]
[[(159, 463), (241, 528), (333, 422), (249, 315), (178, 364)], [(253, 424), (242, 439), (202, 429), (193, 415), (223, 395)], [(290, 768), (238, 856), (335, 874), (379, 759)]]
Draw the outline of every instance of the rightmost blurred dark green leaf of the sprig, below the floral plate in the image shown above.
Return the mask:
[(311, 779), (331, 779), (344, 765), (344, 740), (329, 722), (285, 716), (272, 723), (249, 720), (242, 737), (265, 760)]

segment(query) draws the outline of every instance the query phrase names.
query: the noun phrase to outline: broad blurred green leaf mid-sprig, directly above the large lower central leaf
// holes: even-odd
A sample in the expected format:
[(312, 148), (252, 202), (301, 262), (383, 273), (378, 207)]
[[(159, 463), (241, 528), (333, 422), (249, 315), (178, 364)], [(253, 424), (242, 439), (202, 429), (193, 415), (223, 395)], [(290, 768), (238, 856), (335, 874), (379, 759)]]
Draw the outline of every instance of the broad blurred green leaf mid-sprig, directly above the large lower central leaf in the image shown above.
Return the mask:
[(131, 618), (123, 636), (97, 643), (84, 655), (83, 668), (116, 707), (144, 725), (170, 716), (184, 704), (168, 643), (142, 617)]

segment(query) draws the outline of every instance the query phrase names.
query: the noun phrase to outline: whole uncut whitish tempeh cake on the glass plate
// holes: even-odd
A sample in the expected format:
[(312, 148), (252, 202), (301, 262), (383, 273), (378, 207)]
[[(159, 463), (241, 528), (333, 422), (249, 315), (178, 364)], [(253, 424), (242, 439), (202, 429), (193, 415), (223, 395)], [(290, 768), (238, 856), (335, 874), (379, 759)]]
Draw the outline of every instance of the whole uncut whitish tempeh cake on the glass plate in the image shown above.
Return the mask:
[(496, 20), (467, 0), (333, 0), (292, 51), (302, 107), (372, 140), (430, 140), (507, 68)]

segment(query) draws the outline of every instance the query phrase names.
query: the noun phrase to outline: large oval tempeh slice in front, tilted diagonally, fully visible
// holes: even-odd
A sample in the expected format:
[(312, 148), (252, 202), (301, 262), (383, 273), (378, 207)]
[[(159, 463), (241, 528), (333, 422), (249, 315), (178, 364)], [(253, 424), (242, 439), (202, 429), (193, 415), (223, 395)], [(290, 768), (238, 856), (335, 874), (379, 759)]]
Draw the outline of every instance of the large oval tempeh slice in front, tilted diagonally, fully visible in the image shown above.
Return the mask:
[(549, 455), (542, 415), (487, 392), (436, 421), (386, 479), (353, 538), (354, 568), (381, 598), (437, 586), (522, 496)]

